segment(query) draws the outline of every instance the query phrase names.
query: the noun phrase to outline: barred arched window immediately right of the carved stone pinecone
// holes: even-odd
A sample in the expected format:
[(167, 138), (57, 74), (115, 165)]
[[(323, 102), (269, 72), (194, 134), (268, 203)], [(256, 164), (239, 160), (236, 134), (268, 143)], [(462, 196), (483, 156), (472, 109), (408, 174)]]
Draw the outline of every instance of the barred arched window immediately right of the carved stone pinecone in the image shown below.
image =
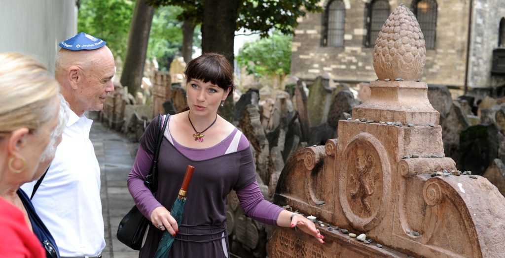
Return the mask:
[(423, 32), (426, 48), (434, 49), (437, 30), (437, 2), (435, 0), (414, 1), (412, 9)]

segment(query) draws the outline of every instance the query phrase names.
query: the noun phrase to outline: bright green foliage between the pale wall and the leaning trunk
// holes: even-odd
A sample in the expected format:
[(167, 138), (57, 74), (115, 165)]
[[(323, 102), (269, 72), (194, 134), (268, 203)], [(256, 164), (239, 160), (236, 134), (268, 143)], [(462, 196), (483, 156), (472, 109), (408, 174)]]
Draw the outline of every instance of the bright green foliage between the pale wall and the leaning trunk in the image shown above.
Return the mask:
[(107, 42), (124, 60), (135, 2), (130, 0), (81, 0), (77, 30)]

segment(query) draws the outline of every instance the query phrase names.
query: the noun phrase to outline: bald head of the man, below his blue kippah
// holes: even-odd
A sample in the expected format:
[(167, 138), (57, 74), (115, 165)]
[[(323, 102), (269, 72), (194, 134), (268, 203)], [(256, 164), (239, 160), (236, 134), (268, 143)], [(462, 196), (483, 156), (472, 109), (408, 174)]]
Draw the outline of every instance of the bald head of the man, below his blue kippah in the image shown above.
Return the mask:
[(114, 73), (114, 56), (107, 46), (79, 51), (62, 48), (56, 56), (55, 77), (77, 115), (103, 109), (107, 93), (114, 91)]

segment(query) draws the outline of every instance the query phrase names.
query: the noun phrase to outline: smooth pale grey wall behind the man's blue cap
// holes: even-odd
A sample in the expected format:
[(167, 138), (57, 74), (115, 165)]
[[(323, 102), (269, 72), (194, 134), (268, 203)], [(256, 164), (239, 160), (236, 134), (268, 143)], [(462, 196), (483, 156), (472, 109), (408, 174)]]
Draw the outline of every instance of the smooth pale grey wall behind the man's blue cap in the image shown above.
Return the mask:
[(0, 0), (0, 52), (21, 52), (55, 70), (58, 43), (77, 31), (76, 0)]

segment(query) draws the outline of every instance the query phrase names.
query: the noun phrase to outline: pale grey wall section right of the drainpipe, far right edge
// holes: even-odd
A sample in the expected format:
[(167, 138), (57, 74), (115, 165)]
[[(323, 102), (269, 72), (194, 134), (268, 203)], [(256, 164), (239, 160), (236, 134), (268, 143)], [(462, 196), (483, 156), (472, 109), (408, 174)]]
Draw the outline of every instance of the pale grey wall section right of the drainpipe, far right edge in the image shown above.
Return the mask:
[[(492, 10), (492, 12), (490, 11)], [(491, 76), (493, 49), (498, 47), (498, 27), (505, 17), (503, 0), (475, 0), (474, 28), (472, 29), (469, 85), (476, 87), (501, 86), (505, 77)]]

